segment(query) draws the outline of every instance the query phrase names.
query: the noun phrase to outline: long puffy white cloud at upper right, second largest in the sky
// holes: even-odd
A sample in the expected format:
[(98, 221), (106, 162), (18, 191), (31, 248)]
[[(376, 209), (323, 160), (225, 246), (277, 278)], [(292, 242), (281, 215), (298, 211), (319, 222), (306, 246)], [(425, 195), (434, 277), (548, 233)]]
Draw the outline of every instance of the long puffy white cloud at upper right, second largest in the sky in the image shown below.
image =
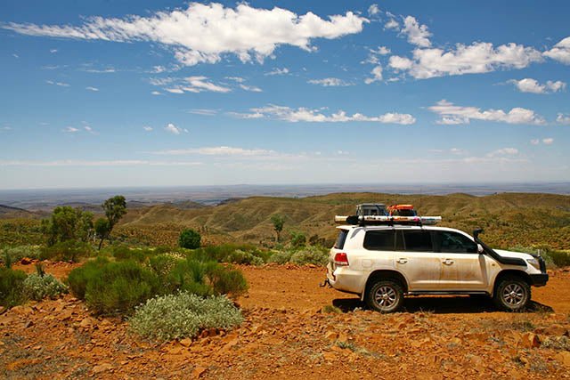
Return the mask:
[(411, 77), (426, 79), (463, 74), (486, 73), (496, 69), (523, 69), (542, 61), (542, 54), (533, 47), (520, 44), (493, 44), (476, 42), (457, 44), (454, 50), (414, 49), (413, 59), (393, 55), (389, 66), (405, 71)]

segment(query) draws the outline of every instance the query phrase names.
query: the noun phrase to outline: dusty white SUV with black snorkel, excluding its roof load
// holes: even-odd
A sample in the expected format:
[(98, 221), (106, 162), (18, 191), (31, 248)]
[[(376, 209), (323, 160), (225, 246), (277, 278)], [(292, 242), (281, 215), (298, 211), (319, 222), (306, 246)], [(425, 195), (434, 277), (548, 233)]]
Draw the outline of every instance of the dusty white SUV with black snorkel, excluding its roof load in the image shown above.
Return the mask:
[(474, 231), (412, 225), (345, 225), (330, 249), (331, 287), (361, 296), (371, 309), (397, 311), (403, 295), (489, 295), (519, 311), (531, 286), (549, 279), (540, 256), (493, 250)]

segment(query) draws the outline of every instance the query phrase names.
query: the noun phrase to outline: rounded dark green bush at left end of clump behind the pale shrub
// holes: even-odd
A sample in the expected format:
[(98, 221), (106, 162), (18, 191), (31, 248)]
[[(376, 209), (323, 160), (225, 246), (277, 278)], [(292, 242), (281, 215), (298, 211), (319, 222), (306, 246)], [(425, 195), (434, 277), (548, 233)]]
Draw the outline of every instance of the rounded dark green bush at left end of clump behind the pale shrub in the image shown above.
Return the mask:
[(85, 302), (95, 313), (128, 313), (159, 293), (157, 275), (140, 263), (104, 264), (85, 287)]

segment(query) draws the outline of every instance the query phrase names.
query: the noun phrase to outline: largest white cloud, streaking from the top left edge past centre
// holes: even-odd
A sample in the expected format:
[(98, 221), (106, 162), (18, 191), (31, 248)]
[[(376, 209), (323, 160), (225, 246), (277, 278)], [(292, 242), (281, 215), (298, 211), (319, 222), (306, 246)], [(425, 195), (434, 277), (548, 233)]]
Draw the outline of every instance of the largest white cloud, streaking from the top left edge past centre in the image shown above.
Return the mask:
[(223, 4), (191, 3), (187, 9), (156, 12), (149, 17), (91, 17), (81, 26), (11, 22), (2, 28), (28, 36), (155, 42), (173, 47), (181, 63), (195, 65), (216, 63), (225, 53), (243, 62), (263, 61), (281, 44), (311, 51), (312, 39), (360, 33), (367, 21), (354, 12), (323, 20), (313, 12), (297, 15), (278, 7), (267, 10), (241, 3), (232, 9)]

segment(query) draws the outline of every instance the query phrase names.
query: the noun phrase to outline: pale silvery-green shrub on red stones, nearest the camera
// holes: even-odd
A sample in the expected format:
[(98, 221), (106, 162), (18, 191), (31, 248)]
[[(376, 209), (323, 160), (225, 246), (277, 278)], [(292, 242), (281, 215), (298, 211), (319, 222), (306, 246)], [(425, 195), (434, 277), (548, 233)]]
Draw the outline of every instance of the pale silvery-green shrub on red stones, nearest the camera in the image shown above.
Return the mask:
[(241, 312), (224, 296), (202, 298), (182, 292), (148, 300), (138, 307), (129, 327), (157, 341), (193, 337), (203, 328), (230, 329), (243, 321)]

